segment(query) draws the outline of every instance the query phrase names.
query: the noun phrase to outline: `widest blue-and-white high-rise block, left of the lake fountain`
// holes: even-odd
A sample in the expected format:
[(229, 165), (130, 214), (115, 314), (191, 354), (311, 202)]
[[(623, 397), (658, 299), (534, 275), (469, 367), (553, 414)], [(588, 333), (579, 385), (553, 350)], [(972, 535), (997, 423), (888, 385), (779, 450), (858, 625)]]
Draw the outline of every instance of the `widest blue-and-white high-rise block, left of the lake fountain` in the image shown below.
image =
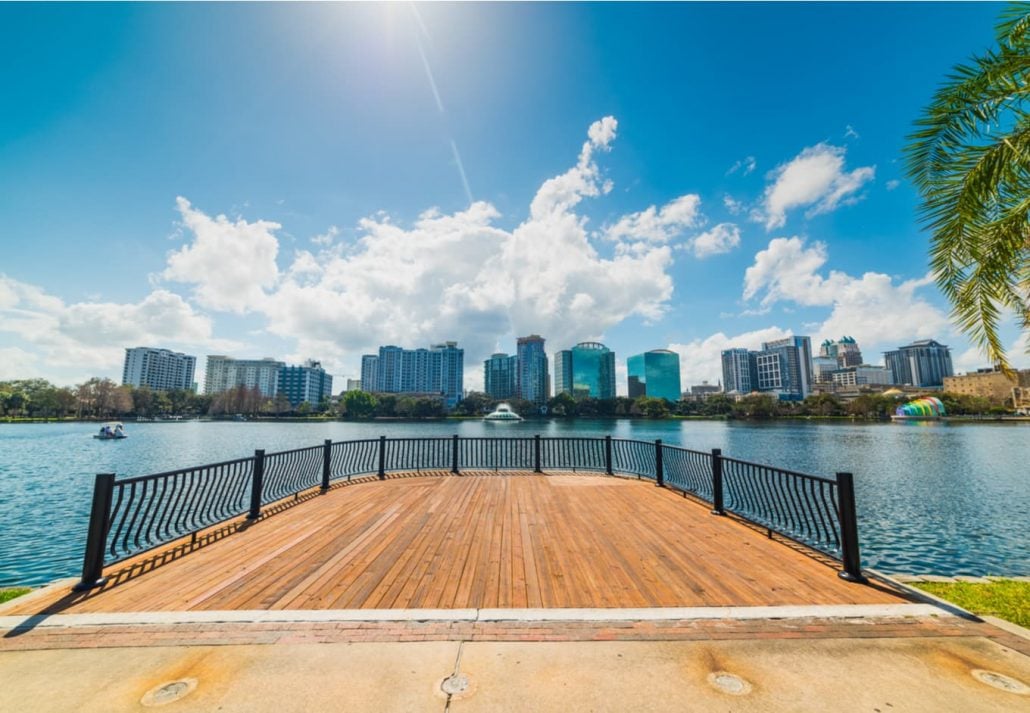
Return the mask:
[(428, 349), (380, 346), (378, 356), (362, 358), (362, 387), (383, 394), (435, 394), (453, 408), (465, 387), (465, 349), (457, 342)]

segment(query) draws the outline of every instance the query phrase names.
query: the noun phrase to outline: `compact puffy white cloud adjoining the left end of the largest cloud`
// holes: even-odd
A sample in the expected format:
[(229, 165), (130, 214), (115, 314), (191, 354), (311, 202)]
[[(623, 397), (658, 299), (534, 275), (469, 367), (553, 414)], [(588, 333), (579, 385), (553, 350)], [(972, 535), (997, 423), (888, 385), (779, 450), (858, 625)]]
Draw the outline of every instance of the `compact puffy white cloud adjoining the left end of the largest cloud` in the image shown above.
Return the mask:
[(181, 197), (176, 204), (193, 241), (168, 256), (161, 277), (195, 285), (194, 297), (204, 307), (237, 314), (259, 309), (279, 276), (275, 231), (281, 226), (211, 217)]

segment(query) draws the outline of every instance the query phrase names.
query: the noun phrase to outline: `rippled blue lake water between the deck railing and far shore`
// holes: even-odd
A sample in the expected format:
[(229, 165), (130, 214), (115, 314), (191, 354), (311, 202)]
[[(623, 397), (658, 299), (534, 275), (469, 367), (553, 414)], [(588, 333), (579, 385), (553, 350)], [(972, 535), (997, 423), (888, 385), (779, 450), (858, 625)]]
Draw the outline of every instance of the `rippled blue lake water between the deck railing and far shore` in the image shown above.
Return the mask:
[(144, 475), (358, 438), (606, 436), (662, 439), (790, 470), (855, 474), (862, 561), (886, 572), (1030, 574), (1030, 427), (1019, 423), (482, 421), (0, 425), (0, 586), (81, 568), (94, 474)]

